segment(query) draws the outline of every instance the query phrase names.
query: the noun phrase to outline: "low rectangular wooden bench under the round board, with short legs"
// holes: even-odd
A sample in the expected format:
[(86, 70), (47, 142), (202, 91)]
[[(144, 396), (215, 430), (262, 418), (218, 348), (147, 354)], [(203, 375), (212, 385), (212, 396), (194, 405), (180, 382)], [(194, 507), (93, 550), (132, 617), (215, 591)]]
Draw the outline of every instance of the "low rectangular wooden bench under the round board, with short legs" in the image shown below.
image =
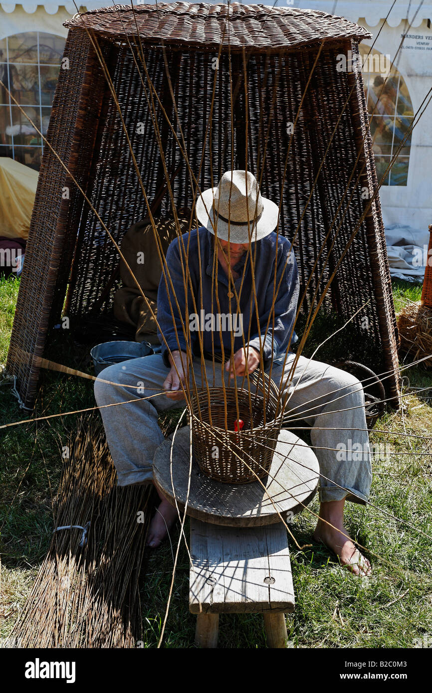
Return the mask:
[(217, 647), (220, 613), (262, 613), (268, 647), (286, 647), (294, 611), (286, 527), (217, 527), (191, 519), (189, 610), (198, 647)]

